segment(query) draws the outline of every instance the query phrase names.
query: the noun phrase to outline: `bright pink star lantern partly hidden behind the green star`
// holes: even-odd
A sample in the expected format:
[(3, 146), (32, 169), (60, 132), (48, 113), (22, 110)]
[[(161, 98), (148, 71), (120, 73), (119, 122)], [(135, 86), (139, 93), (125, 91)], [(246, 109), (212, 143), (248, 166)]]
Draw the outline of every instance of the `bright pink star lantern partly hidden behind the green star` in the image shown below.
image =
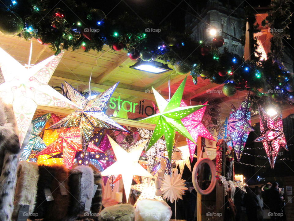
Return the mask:
[[(207, 105), (208, 102), (204, 103), (204, 105)], [(181, 107), (187, 107), (187, 104), (182, 101)], [(209, 133), (209, 131), (206, 129), (206, 127), (202, 124), (202, 118), (205, 112), (206, 106), (202, 107), (198, 111), (195, 111), (194, 113), (188, 115), (187, 117), (182, 119), (183, 125), (187, 128), (188, 132), (191, 134), (194, 141), (197, 142), (198, 136), (207, 138), (209, 140), (215, 141), (213, 136)], [(191, 162), (193, 161), (196, 144), (189, 139), (187, 139), (187, 144), (189, 146), (190, 150), (190, 157)], [(191, 169), (190, 169), (191, 170)]]

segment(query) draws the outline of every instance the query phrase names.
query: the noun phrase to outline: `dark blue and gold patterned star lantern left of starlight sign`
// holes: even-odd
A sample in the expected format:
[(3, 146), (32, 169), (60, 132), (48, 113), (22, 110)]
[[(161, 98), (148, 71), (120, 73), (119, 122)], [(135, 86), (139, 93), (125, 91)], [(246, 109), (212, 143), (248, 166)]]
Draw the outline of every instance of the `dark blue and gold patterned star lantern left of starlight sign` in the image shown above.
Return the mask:
[(81, 106), (82, 108), (74, 111), (72, 114), (68, 115), (58, 123), (51, 126), (49, 129), (67, 127), (79, 128), (81, 131), (80, 135), (83, 153), (85, 153), (87, 150), (87, 145), (89, 144), (95, 127), (114, 130), (125, 130), (122, 126), (120, 126), (104, 113), (104, 108), (117, 85), (118, 83), (116, 83), (103, 93), (97, 95), (92, 100), (88, 100), (85, 98), (85, 96), (81, 95), (77, 90), (70, 86), (70, 84), (65, 82), (64, 91), (67, 92), (67, 96), (72, 102), (74, 102), (78, 106)]

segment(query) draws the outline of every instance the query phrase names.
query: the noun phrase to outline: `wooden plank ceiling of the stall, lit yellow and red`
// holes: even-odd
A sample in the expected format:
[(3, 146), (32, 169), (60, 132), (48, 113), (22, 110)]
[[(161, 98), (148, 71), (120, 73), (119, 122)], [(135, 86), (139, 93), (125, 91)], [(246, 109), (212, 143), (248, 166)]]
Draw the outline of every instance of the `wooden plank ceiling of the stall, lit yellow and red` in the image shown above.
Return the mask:
[[(54, 54), (49, 46), (41, 45), (36, 39), (32, 39), (32, 45), (31, 64), (36, 64)], [(0, 47), (21, 64), (28, 64), (30, 41), (0, 34)], [(168, 98), (168, 81), (170, 80), (172, 95), (185, 78), (184, 75), (176, 74), (174, 70), (162, 74), (152, 74), (131, 69), (129, 67), (136, 61), (130, 60), (125, 51), (112, 51), (107, 45), (103, 49), (104, 52), (99, 53), (95, 51), (84, 52), (82, 49), (66, 51), (49, 85), (60, 86), (66, 80), (77, 90), (84, 91), (89, 88), (89, 79), (92, 73), (92, 90), (104, 91), (120, 81), (114, 95), (119, 95), (123, 100), (138, 102), (142, 99), (154, 101), (153, 94), (145, 92), (147, 89), (150, 90), (151, 86), (160, 90), (161, 95)], [(210, 83), (208, 79), (203, 80), (200, 77), (197, 85), (194, 85), (191, 76), (188, 76), (183, 99), (192, 105), (207, 100), (216, 100), (222, 108), (221, 117), (225, 119), (230, 112), (231, 103), (238, 107), (247, 91), (238, 91), (236, 95), (226, 97), (221, 93), (221, 88), (222, 85)], [(216, 92), (208, 93), (208, 90)], [(293, 113), (293, 110), (289, 108), (288, 112)], [(253, 118), (253, 122), (258, 122), (257, 116)]]

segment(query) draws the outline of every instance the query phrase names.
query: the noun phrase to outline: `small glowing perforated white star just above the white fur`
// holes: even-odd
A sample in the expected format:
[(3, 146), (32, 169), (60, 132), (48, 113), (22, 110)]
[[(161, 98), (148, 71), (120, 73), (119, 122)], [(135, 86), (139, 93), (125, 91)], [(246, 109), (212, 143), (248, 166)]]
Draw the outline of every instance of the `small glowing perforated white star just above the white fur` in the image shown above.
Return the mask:
[(135, 184), (132, 185), (132, 189), (140, 191), (141, 194), (138, 198), (138, 200), (136, 201), (134, 207), (137, 205), (137, 202), (139, 202), (140, 200), (143, 199), (151, 199), (151, 200), (158, 200), (158, 201), (163, 201), (161, 196), (156, 196), (155, 195), (155, 191), (156, 191), (156, 187), (155, 187), (155, 182), (151, 179), (148, 179), (146, 177), (142, 177), (142, 182), (141, 184)]

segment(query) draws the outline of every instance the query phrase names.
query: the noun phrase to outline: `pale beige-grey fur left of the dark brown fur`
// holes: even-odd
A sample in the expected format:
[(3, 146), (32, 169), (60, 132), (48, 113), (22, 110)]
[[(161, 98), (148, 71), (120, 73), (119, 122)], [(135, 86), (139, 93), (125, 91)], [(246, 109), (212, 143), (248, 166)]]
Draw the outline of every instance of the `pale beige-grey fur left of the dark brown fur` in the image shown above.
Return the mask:
[(29, 213), (34, 211), (38, 179), (39, 168), (36, 163), (27, 161), (19, 162), (12, 220), (17, 219), (20, 205), (30, 205)]

